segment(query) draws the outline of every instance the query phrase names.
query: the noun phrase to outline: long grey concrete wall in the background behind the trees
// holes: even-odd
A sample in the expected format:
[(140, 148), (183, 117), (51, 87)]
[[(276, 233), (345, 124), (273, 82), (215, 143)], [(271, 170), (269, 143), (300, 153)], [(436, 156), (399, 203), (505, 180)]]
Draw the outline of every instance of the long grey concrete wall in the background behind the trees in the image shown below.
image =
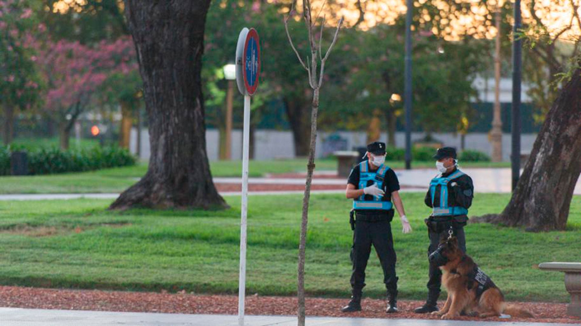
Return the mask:
[[(324, 148), (324, 142), (329, 135), (339, 135), (346, 140), (346, 149), (351, 150), (353, 147), (365, 146), (367, 135), (365, 132), (320, 132), (317, 137), (317, 157), (321, 157)], [(396, 133), (396, 146), (403, 147), (405, 144), (405, 133)], [(412, 133), (412, 141), (422, 139), (425, 133)], [(453, 135), (452, 133), (436, 133), (432, 135), (435, 139), (444, 143), (444, 146), (454, 146), (460, 148), (460, 135)], [(272, 160), (274, 158), (293, 158), (295, 157), (295, 145), (290, 131), (271, 131), (258, 130), (255, 135), (256, 145), (254, 146), (254, 158), (256, 160)], [(523, 153), (528, 153), (535, 142), (535, 134), (525, 134), (521, 137), (521, 148)], [(206, 150), (210, 160), (218, 160), (218, 140), (219, 135), (216, 129), (209, 129), (206, 131)], [(386, 142), (387, 135), (384, 133), (379, 139)], [(487, 133), (469, 133), (465, 140), (466, 148), (479, 150), (487, 154), (492, 154), (492, 147), (488, 140)], [(506, 133), (503, 135), (503, 159), (510, 160), (511, 135)], [(131, 130), (131, 144), (130, 150), (132, 153), (137, 153), (137, 129)], [(141, 155), (142, 160), (149, 160), (149, 133), (147, 129), (141, 132)], [(242, 131), (235, 130), (232, 132), (232, 158), (234, 160), (242, 159)]]

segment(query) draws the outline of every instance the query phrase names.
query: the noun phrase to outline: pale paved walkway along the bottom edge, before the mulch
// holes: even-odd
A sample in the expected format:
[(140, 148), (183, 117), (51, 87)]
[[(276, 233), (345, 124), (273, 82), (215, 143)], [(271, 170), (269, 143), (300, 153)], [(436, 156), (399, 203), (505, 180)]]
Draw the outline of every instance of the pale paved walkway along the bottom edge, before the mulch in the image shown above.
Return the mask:
[[(238, 316), (0, 308), (2, 326), (238, 326)], [(292, 326), (292, 316), (246, 316), (246, 326)], [(571, 324), (307, 317), (308, 326), (570, 326)]]

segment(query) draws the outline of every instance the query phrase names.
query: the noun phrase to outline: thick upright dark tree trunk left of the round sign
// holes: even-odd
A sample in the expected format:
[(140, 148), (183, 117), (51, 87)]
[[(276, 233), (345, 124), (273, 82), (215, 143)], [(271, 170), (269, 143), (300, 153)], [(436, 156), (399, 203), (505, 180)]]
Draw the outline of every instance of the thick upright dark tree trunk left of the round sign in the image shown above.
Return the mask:
[(110, 208), (227, 207), (210, 174), (200, 70), (210, 0), (125, 0), (148, 112), (146, 175)]

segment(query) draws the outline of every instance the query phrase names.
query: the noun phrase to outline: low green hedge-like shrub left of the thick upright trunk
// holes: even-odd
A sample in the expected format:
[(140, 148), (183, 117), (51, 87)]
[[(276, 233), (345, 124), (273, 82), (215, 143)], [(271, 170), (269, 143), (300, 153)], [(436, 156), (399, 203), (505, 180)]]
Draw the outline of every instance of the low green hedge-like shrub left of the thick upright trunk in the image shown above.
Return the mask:
[(119, 147), (94, 147), (89, 150), (60, 150), (42, 148), (28, 153), (31, 175), (64, 172), (82, 172), (114, 166), (134, 165), (137, 159), (128, 150)]

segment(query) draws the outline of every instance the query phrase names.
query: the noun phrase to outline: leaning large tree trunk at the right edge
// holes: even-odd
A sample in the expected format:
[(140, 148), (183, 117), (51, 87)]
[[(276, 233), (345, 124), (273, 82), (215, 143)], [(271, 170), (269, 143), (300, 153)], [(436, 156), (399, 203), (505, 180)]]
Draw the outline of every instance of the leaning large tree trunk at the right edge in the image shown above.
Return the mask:
[(581, 70), (547, 114), (524, 172), (500, 215), (477, 222), (523, 226), (528, 231), (564, 230), (581, 172)]

